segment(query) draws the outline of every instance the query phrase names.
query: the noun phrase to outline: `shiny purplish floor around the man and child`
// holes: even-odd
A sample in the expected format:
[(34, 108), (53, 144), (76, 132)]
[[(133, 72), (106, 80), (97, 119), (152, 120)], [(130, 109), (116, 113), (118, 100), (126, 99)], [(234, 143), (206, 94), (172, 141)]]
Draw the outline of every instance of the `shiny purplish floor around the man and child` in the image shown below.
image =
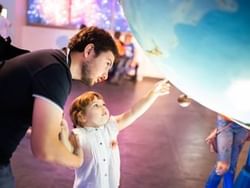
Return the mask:
[[(120, 86), (99, 84), (95, 91), (104, 95), (112, 114), (128, 109), (151, 88), (155, 80), (145, 79)], [(74, 82), (66, 104), (81, 92), (89, 90)], [(193, 102), (182, 108), (176, 102), (180, 92), (174, 87), (171, 94), (156, 103), (131, 127), (119, 135), (121, 150), (121, 188), (202, 188), (215, 155), (209, 153), (204, 139), (215, 126), (215, 114)], [(245, 145), (238, 169), (244, 164)], [(70, 188), (74, 172), (35, 159), (25, 137), (12, 159), (17, 188)]]

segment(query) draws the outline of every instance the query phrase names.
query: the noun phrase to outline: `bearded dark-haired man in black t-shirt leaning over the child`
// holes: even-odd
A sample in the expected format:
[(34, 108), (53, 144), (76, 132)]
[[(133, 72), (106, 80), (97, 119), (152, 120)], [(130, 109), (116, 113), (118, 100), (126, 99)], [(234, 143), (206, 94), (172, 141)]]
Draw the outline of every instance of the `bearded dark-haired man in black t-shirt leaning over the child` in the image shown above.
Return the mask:
[(59, 141), (71, 79), (94, 85), (107, 79), (117, 48), (106, 31), (79, 31), (63, 50), (40, 50), (5, 61), (0, 69), (0, 187), (14, 187), (10, 158), (32, 125), (31, 148), (40, 160), (76, 168), (79, 146), (70, 153)]

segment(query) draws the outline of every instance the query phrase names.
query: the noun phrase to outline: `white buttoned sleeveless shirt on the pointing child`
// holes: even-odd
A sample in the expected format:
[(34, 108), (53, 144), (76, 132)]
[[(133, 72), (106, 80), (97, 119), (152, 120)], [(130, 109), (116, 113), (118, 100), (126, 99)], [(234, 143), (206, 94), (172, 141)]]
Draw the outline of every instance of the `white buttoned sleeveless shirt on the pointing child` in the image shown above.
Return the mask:
[(75, 128), (84, 152), (83, 165), (75, 170), (74, 188), (118, 188), (120, 154), (118, 128), (113, 117), (100, 128)]

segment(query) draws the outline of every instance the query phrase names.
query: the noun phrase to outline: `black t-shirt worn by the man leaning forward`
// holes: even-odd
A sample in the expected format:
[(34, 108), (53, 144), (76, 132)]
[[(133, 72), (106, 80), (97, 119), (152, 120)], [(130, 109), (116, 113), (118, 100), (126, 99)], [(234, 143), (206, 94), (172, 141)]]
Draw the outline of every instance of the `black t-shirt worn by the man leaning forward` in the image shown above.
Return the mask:
[(32, 121), (35, 96), (63, 109), (71, 74), (61, 50), (40, 50), (5, 62), (0, 69), (0, 164), (12, 153)]

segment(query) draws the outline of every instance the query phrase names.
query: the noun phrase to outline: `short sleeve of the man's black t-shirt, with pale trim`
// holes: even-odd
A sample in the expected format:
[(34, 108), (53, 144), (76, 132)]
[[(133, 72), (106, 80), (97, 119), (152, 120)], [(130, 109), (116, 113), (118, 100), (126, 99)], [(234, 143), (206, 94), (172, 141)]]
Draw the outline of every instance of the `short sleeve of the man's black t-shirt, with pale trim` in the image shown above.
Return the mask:
[(50, 65), (34, 75), (33, 95), (51, 100), (62, 109), (70, 92), (71, 80), (60, 64)]

